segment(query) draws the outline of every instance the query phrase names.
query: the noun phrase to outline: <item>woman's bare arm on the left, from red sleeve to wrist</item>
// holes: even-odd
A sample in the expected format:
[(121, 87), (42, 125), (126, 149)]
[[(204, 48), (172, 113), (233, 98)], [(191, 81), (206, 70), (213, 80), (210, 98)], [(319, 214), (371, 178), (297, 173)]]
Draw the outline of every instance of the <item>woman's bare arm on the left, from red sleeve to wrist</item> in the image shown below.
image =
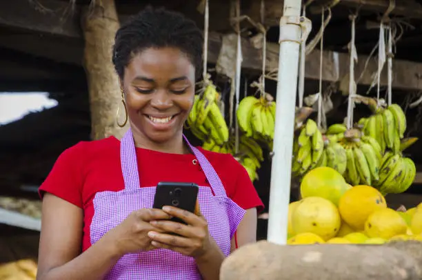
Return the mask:
[(83, 210), (46, 193), (43, 198), (37, 280), (103, 279), (121, 257), (100, 239), (81, 254)]

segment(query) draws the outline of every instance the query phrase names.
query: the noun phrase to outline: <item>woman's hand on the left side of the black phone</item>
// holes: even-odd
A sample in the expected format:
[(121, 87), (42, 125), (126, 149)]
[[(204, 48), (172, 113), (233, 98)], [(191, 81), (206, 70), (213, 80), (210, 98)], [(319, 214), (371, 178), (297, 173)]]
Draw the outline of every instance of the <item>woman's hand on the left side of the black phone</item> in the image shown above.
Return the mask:
[(152, 250), (156, 247), (151, 245), (151, 239), (147, 234), (151, 230), (155, 232), (162, 230), (154, 227), (150, 221), (165, 219), (170, 219), (170, 215), (163, 210), (143, 208), (130, 213), (119, 226), (104, 234), (103, 239), (114, 243), (119, 255)]

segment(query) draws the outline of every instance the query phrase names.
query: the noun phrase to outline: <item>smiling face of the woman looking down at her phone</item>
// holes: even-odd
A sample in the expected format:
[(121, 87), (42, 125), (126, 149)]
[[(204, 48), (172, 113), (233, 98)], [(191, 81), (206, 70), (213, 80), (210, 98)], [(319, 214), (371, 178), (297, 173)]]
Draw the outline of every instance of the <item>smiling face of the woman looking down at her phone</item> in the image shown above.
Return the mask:
[(181, 136), (195, 88), (195, 68), (181, 50), (139, 52), (125, 68), (121, 82), (134, 133), (156, 143)]

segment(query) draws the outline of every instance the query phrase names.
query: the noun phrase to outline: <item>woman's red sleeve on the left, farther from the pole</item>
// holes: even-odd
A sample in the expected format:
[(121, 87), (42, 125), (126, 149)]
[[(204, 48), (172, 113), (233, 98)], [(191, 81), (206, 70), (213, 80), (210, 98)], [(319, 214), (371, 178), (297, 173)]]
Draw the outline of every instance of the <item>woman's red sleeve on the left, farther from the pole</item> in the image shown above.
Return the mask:
[(62, 152), (39, 188), (39, 195), (43, 198), (44, 192), (54, 194), (79, 208), (82, 208), (82, 142)]

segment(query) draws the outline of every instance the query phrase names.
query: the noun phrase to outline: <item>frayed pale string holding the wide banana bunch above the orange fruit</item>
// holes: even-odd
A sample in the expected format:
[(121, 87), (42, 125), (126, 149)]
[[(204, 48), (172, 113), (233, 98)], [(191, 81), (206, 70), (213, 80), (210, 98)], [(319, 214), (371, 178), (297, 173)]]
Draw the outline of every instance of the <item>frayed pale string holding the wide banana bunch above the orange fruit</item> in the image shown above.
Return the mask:
[(354, 95), (356, 94), (356, 84), (354, 83), (354, 63), (357, 62), (357, 52), (356, 46), (354, 45), (355, 41), (355, 31), (356, 31), (356, 17), (357, 14), (350, 16), (352, 21), (352, 38), (350, 39), (350, 65), (349, 65), (349, 97), (348, 97), (348, 117), (346, 126), (348, 129), (353, 126), (353, 108), (354, 108)]

